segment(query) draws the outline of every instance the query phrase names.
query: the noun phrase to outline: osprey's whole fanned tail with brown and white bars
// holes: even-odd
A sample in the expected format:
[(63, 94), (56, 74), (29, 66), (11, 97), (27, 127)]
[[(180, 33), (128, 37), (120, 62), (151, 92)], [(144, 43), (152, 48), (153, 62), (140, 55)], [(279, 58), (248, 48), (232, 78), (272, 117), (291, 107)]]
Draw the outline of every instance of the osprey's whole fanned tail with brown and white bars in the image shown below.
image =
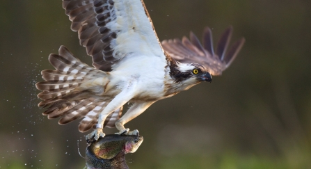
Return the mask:
[[(36, 83), (36, 87), (42, 90), (38, 97), (43, 100), (38, 106), (47, 107), (43, 115), (49, 119), (60, 118), (58, 124), (84, 117), (79, 124), (79, 131), (88, 131), (110, 100), (99, 99), (80, 86), (97, 78), (107, 78), (108, 74), (82, 63), (66, 47), (61, 46), (58, 52), (58, 55), (49, 56), (49, 62), (56, 70), (43, 70), (41, 74), (45, 81)], [(121, 113), (122, 108), (119, 108), (108, 115), (105, 122), (107, 127), (114, 127)]]

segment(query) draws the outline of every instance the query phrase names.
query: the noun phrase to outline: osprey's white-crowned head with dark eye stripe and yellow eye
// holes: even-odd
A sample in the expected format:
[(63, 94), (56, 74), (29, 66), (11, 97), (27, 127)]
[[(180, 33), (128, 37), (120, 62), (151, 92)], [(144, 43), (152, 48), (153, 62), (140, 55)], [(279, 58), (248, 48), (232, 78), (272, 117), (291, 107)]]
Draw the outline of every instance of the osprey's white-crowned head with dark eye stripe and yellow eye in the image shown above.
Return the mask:
[(201, 81), (212, 82), (212, 75), (207, 68), (198, 63), (177, 63), (170, 69), (170, 76), (175, 82), (195, 85)]

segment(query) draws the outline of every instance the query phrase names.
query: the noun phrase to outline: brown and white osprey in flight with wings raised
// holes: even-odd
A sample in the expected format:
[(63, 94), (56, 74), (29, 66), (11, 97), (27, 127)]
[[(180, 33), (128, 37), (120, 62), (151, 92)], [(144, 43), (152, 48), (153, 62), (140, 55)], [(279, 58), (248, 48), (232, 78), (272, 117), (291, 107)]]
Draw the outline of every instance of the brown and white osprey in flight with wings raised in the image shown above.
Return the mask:
[[(239, 53), (244, 38), (225, 54), (232, 27), (223, 33), (216, 51), (212, 32), (205, 28), (203, 43), (190, 40), (159, 42), (143, 0), (63, 0), (65, 13), (79, 40), (93, 57), (90, 67), (64, 46), (50, 54), (56, 70), (43, 70), (45, 81), (36, 84), (43, 115), (67, 124), (83, 118), (79, 131), (95, 127), (87, 139), (104, 137), (104, 127), (118, 134), (139, 134), (124, 124), (160, 99), (172, 97), (202, 81), (220, 75)], [(126, 103), (133, 105), (122, 115)], [(122, 115), (122, 117), (121, 117)]]

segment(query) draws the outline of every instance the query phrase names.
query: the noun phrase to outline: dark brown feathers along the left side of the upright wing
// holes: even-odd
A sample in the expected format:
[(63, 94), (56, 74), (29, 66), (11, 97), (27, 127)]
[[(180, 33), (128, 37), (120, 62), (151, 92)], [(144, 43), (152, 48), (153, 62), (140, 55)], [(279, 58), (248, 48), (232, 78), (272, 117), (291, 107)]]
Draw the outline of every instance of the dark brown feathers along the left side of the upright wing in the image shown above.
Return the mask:
[(72, 21), (71, 29), (78, 31), (80, 44), (93, 56), (93, 65), (104, 71), (111, 71), (111, 65), (118, 61), (114, 58), (111, 43), (117, 30), (111, 30), (107, 24), (116, 19), (112, 0), (63, 0), (66, 15)]

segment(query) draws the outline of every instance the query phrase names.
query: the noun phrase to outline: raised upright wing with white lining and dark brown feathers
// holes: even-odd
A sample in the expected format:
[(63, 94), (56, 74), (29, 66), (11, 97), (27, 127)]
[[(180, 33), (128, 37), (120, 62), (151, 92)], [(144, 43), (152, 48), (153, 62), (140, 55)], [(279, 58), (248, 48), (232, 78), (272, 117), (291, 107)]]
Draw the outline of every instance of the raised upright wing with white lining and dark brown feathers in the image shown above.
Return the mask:
[(127, 54), (166, 57), (143, 0), (63, 0), (63, 8), (99, 70)]

